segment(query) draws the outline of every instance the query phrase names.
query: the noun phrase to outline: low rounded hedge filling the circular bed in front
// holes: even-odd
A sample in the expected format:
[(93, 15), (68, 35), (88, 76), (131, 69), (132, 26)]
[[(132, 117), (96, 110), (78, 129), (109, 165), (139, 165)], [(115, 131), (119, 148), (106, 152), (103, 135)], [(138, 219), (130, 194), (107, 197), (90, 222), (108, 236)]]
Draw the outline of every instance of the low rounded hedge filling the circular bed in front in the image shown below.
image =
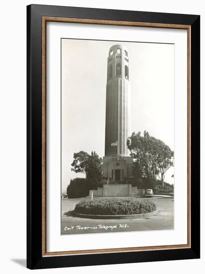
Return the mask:
[(75, 211), (91, 215), (132, 215), (155, 211), (156, 205), (148, 199), (105, 198), (83, 200), (75, 207)]

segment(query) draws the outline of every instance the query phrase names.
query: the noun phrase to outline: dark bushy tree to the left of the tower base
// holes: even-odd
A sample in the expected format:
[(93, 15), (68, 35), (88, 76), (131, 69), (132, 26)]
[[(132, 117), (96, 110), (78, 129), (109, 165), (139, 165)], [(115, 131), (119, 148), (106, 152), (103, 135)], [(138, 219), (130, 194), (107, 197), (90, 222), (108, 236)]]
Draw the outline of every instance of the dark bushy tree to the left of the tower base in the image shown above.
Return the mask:
[(100, 182), (102, 179), (102, 162), (102, 158), (99, 157), (96, 151), (92, 151), (91, 154), (79, 151), (74, 153), (71, 170), (76, 173), (84, 173), (89, 182)]

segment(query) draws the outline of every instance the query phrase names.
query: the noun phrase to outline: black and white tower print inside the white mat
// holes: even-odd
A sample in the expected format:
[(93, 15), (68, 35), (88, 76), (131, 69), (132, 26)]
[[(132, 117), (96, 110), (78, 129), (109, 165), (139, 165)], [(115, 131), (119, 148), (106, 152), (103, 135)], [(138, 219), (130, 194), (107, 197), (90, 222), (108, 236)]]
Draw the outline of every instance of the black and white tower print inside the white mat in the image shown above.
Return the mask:
[(174, 230), (174, 55), (61, 38), (61, 235)]

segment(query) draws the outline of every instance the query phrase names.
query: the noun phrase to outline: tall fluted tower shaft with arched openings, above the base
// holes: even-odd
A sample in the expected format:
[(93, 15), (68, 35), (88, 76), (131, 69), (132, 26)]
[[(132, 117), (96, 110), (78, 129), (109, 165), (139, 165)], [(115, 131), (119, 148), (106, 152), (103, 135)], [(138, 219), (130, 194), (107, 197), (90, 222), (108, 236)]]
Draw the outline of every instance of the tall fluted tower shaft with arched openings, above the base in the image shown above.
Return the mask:
[(130, 87), (128, 51), (114, 45), (107, 58), (105, 156), (128, 156)]

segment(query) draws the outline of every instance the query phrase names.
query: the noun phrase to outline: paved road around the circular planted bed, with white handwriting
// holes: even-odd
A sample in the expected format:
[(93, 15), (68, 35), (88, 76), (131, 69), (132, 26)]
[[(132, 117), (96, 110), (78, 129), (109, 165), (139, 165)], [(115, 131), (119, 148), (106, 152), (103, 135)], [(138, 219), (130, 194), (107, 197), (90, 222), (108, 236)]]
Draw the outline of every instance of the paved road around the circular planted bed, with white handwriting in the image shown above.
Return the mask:
[[(147, 219), (121, 219), (102, 220), (73, 217), (70, 211), (75, 205), (83, 200), (63, 199), (62, 200), (62, 227), (61, 233), (82, 234), (102, 232), (123, 232), (123, 231), (148, 231), (148, 230), (169, 230), (174, 228), (174, 199), (153, 197), (152, 200), (159, 209), (158, 214)], [(139, 198), (140, 199), (140, 198)]]

